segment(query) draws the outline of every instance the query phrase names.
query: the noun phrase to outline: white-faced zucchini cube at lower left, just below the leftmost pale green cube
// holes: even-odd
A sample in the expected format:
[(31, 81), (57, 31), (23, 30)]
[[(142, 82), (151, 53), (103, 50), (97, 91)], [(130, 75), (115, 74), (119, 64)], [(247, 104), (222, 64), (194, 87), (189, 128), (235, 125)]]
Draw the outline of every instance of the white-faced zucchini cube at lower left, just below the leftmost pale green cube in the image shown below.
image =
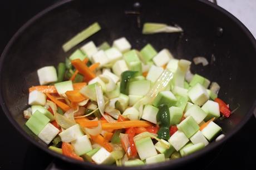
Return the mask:
[(42, 131), (38, 134), (38, 137), (46, 144), (49, 144), (59, 132), (60, 130), (53, 126), (53, 124), (47, 123)]

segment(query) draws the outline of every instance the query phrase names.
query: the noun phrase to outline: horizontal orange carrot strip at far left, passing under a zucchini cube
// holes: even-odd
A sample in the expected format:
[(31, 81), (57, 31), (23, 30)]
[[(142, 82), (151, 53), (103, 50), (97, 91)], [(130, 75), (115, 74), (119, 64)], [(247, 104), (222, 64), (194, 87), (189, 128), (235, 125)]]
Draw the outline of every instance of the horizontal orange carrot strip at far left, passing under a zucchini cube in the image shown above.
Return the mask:
[[(75, 90), (80, 90), (84, 86), (86, 86), (85, 82), (73, 83), (73, 88)], [(35, 90), (40, 91), (42, 93), (57, 93), (55, 86), (32, 86), (28, 89), (29, 93), (31, 93), (32, 91), (35, 91)]]

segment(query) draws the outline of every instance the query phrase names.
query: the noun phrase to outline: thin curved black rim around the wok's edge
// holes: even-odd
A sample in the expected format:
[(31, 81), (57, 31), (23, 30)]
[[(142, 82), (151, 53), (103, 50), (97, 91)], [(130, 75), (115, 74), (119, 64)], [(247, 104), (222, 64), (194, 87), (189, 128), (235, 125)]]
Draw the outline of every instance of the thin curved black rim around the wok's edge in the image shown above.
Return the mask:
[[(9, 40), (9, 42), (7, 43), (6, 47), (4, 48), (4, 50), (2, 52), (2, 55), (1, 55), (1, 58), (0, 58), (0, 80), (2, 79), (2, 68), (3, 68), (4, 59), (7, 56), (6, 54), (8, 53), (9, 49), (12, 47), (12, 44), (16, 41), (16, 39), (19, 36), (21, 36), (23, 31), (25, 31), (26, 28), (31, 26), (31, 24), (35, 23), (37, 21), (37, 19), (40, 19), (41, 17), (45, 16), (45, 14), (47, 14), (48, 12), (50, 12), (50, 11), (52, 11), (52, 10), (58, 8), (58, 7), (61, 7), (64, 4), (70, 3), (72, 1), (74, 1), (74, 0), (65, 0), (65, 1), (61, 1), (61, 2), (58, 2), (58, 3), (52, 4), (50, 7), (47, 7), (45, 9), (43, 9), (43, 11), (37, 13), (34, 17), (32, 17), (26, 23), (24, 23), (21, 28), (18, 29), (18, 31)], [(232, 19), (232, 21), (237, 25), (237, 27), (240, 27), (242, 29), (242, 31), (247, 35), (247, 38), (249, 38), (249, 41), (252, 43), (252, 45), (253, 45), (253, 47), (255, 49), (255, 52), (256, 52), (256, 41), (255, 41), (254, 36), (252, 35), (252, 33), (250, 33), (248, 28), (245, 27), (244, 24), (239, 21), (239, 19), (234, 17), (233, 14), (229, 13), (225, 9), (223, 9), (223, 8), (217, 6), (217, 5), (215, 5), (215, 4), (213, 4), (213, 3), (209, 2), (209, 1), (204, 1), (204, 0), (197, 0), (197, 1), (199, 3), (206, 4), (206, 5), (210, 6), (211, 8), (214, 8), (214, 10), (219, 11), (220, 13), (222, 13), (225, 16), (227, 16), (230, 19)], [(55, 158), (57, 157), (59, 159), (62, 159), (63, 161), (67, 161), (68, 163), (71, 163), (71, 164), (76, 164), (76, 165), (81, 166), (81, 167), (102, 168), (102, 169), (155, 169), (155, 168), (166, 168), (168, 166), (173, 167), (173, 168), (179, 167), (179, 166), (182, 165), (182, 162), (191, 162), (191, 161), (193, 161), (193, 159), (201, 157), (205, 153), (211, 152), (214, 148), (219, 147), (219, 146), (221, 146), (221, 144), (224, 144), (226, 141), (228, 141), (228, 139), (230, 139), (232, 136), (234, 136), (235, 133), (240, 131), (240, 129), (244, 126), (244, 124), (249, 121), (249, 119), (253, 115), (253, 112), (255, 112), (255, 108), (256, 108), (256, 102), (254, 102), (253, 106), (249, 109), (249, 112), (244, 117), (244, 119), (238, 124), (237, 127), (234, 128), (234, 130), (232, 132), (230, 132), (227, 135), (225, 135), (225, 138), (221, 139), (221, 141), (211, 143), (208, 147), (205, 147), (204, 149), (201, 149), (200, 151), (195, 152), (195, 153), (193, 153), (193, 154), (191, 154), (189, 156), (176, 159), (175, 161), (166, 161), (166, 162), (162, 162), (162, 163), (150, 164), (150, 165), (145, 165), (145, 166), (117, 167), (117, 166), (97, 165), (97, 164), (92, 164), (92, 163), (89, 163), (89, 162), (77, 161), (75, 159), (68, 158), (66, 156), (63, 156), (62, 154), (58, 154), (58, 153), (56, 153), (54, 151), (51, 151), (47, 147), (43, 147), (42, 144), (38, 143), (35, 139), (33, 139), (31, 136), (29, 136), (19, 126), (19, 124), (12, 117), (11, 113), (8, 111), (8, 108), (5, 105), (4, 98), (2, 96), (2, 84), (1, 83), (0, 83), (0, 105), (2, 107), (2, 110), (3, 110), (4, 114), (8, 118), (9, 122), (12, 123), (12, 125), (17, 129), (17, 131), (20, 134), (22, 134), (22, 136), (24, 138), (26, 138), (29, 142), (33, 143), (38, 148), (42, 149), (43, 151), (45, 151), (48, 154), (51, 154)]]

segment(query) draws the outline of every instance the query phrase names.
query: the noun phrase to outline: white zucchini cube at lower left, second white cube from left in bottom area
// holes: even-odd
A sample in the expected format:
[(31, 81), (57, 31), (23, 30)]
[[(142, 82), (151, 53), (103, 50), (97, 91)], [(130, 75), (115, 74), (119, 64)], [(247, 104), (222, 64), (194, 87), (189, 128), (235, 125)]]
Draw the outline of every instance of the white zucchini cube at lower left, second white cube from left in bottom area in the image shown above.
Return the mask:
[(83, 136), (83, 132), (79, 126), (79, 124), (75, 124), (70, 128), (65, 129), (61, 133), (58, 134), (61, 137), (62, 142), (72, 142), (75, 141), (78, 137)]

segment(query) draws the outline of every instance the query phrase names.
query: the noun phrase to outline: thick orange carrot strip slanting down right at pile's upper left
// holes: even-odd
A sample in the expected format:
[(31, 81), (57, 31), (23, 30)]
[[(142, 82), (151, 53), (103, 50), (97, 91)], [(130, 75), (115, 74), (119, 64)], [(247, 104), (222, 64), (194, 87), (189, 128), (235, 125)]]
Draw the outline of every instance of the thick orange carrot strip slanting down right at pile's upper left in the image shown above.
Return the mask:
[(80, 72), (86, 79), (86, 81), (90, 81), (91, 79), (95, 78), (96, 75), (93, 73), (87, 66), (84, 64), (81, 59), (73, 59), (71, 64)]

